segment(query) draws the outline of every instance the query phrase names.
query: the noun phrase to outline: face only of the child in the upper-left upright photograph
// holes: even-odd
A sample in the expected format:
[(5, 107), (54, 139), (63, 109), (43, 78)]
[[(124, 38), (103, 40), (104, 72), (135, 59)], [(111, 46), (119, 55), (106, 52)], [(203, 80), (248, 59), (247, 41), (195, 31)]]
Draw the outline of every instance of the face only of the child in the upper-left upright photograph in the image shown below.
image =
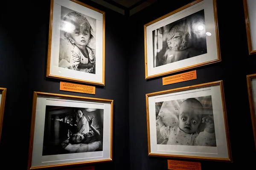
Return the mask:
[(90, 26), (88, 23), (77, 22), (71, 34), (70, 41), (76, 45), (86, 46), (90, 40)]

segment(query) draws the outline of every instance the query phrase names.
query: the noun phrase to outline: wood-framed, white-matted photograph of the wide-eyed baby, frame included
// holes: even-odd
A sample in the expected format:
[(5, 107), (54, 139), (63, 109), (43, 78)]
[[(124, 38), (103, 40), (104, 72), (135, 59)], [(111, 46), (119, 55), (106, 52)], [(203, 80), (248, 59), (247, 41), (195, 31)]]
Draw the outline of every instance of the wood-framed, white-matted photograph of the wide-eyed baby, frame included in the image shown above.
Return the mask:
[[(232, 161), (222, 80), (154, 92), (146, 94), (145, 97), (149, 156)], [(161, 134), (161, 130), (165, 130), (166, 128), (164, 128), (164, 126), (161, 126), (163, 127), (162, 129), (159, 127), (159, 124), (161, 125), (159, 117), (161, 117), (161, 120), (166, 127), (176, 126), (176, 131), (179, 131), (180, 133), (185, 132), (179, 125), (179, 122), (181, 121), (179, 109), (180, 104), (189, 98), (195, 98), (200, 101), (201, 105), (203, 105), (203, 109), (201, 110), (202, 115), (212, 116), (212, 118), (214, 118), (215, 133), (211, 134), (215, 134), (215, 136), (212, 136), (211, 138), (215, 139), (215, 141), (213, 141), (211, 146), (199, 144), (201, 142), (199, 141), (200, 139), (198, 139), (198, 143), (193, 143), (193, 136), (189, 139), (191, 140), (190, 142), (192, 142), (190, 144), (179, 144), (177, 141), (176, 143), (171, 143), (172, 141), (169, 143), (169, 139), (165, 139), (162, 136), (162, 134), (167, 133), (162, 132)], [(202, 119), (203, 117), (204, 116), (202, 116)], [(200, 122), (200, 120), (198, 120), (198, 122)], [(206, 130), (202, 121), (200, 122), (198, 129), (200, 130), (199, 132), (204, 132)], [(172, 132), (175, 132), (175, 130)], [(198, 134), (198, 132), (191, 132), (189, 134), (195, 135)], [(190, 135), (183, 136), (186, 137)], [(168, 142), (166, 142), (167, 140)], [(177, 140), (177, 138), (175, 140)]]

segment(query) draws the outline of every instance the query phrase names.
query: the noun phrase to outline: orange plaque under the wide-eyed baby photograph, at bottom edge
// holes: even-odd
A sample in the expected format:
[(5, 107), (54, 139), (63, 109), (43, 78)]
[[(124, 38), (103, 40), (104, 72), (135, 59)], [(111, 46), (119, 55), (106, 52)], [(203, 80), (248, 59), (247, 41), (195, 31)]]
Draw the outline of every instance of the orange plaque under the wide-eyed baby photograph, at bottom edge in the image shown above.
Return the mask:
[(200, 162), (168, 160), (169, 170), (201, 170)]

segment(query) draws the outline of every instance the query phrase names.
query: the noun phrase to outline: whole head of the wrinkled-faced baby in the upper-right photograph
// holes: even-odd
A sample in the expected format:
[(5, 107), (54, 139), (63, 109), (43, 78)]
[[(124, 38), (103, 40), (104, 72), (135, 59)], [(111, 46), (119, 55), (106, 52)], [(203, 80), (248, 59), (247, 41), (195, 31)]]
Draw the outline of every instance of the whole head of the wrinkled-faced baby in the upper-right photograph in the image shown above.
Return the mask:
[(182, 51), (189, 48), (191, 39), (190, 28), (186, 20), (172, 26), (167, 35), (167, 45), (174, 51)]

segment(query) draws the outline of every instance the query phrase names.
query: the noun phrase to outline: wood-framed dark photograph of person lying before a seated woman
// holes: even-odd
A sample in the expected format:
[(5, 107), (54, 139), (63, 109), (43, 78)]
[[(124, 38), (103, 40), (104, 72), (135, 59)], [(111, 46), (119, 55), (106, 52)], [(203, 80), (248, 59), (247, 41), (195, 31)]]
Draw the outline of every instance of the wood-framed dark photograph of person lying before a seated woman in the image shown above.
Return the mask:
[(28, 170), (112, 161), (113, 100), (34, 92)]

